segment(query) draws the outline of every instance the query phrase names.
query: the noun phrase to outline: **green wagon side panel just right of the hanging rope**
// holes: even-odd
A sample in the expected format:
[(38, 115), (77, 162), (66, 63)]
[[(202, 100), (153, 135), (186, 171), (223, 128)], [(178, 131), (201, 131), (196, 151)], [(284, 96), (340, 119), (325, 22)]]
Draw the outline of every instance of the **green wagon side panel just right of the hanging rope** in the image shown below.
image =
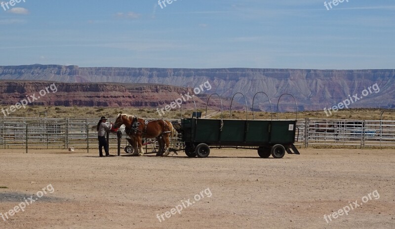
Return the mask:
[(245, 120), (223, 120), (221, 142), (244, 142)]

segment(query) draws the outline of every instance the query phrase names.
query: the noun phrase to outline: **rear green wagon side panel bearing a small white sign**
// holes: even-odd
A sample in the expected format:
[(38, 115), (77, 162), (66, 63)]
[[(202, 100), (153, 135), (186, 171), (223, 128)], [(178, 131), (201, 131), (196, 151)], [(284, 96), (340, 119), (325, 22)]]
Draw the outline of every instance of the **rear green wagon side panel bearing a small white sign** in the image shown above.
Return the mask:
[[(271, 139), (272, 143), (293, 143), (296, 121), (293, 120), (274, 120), (272, 122)], [(292, 129), (292, 130), (290, 130)]]

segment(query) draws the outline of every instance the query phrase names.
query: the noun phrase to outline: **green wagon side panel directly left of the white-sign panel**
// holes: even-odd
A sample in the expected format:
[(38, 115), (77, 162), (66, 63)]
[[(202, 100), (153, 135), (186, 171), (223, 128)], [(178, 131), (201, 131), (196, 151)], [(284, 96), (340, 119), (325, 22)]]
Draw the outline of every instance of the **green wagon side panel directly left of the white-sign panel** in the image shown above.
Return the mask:
[(246, 142), (269, 142), (269, 120), (248, 120)]

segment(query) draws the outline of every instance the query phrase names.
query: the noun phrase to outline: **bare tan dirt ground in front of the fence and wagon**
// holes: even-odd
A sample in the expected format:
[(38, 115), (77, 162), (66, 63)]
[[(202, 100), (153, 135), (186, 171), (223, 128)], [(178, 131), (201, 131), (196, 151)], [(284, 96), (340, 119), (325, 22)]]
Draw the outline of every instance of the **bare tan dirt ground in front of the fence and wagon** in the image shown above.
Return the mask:
[[(393, 149), (300, 149), (282, 159), (236, 149), (207, 158), (23, 152), (0, 150), (0, 213), (29, 203), (0, 229), (395, 228)], [(348, 215), (332, 215), (350, 204)]]

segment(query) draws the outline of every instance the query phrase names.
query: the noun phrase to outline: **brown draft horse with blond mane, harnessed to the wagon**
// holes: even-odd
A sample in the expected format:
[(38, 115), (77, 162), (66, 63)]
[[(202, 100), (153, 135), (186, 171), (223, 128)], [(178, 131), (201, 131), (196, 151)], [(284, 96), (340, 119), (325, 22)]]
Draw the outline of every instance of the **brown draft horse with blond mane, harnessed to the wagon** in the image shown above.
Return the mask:
[[(122, 124), (125, 125), (126, 134), (130, 136), (132, 142), (134, 143), (134, 152), (139, 152), (139, 156), (144, 155), (142, 138), (158, 139), (158, 155), (167, 156), (170, 153), (169, 137), (172, 139), (175, 134), (175, 129), (173, 128), (171, 122), (163, 119), (146, 121), (130, 114), (118, 114), (114, 123), (114, 128), (117, 128)], [(165, 144), (165, 149), (163, 149), (163, 141)]]

